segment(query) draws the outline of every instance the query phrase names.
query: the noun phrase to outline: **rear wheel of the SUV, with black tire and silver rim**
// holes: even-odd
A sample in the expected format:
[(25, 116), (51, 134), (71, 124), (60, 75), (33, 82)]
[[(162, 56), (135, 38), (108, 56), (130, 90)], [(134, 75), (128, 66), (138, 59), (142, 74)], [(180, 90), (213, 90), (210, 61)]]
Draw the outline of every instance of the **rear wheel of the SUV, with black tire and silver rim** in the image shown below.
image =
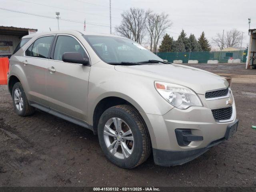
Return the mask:
[(28, 99), (20, 82), (15, 83), (12, 88), (12, 103), (19, 116), (29, 116), (35, 112), (35, 108), (28, 104)]

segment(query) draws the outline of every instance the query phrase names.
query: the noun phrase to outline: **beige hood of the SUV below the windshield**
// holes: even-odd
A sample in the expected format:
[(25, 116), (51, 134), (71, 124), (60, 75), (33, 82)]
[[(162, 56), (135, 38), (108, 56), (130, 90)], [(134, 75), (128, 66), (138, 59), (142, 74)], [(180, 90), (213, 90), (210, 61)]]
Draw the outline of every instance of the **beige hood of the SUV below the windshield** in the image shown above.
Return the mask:
[(221, 76), (180, 64), (115, 66), (115, 69), (119, 72), (152, 78), (155, 81), (186, 86), (197, 94), (205, 94), (206, 91), (228, 87), (227, 80)]

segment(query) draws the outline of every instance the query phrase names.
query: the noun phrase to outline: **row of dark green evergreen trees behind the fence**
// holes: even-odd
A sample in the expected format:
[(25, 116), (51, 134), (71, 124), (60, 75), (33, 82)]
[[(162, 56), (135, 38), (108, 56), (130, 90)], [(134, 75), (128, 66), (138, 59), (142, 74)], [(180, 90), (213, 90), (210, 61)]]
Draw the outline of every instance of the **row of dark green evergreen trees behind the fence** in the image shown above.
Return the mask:
[(211, 46), (208, 39), (205, 37), (204, 32), (196, 39), (194, 34), (190, 34), (187, 37), (184, 30), (180, 32), (180, 35), (176, 41), (169, 34), (165, 34), (161, 45), (159, 46), (159, 52), (190, 52), (190, 51), (210, 51)]

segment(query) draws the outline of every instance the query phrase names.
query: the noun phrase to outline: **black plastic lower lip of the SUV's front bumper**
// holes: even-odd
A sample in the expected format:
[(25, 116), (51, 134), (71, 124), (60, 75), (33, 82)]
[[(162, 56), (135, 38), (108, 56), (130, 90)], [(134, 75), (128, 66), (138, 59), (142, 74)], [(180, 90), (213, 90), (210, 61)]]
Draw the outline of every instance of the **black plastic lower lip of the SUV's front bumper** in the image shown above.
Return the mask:
[[(232, 126), (236, 125), (235, 129), (232, 129)], [(213, 146), (216, 146), (225, 140), (228, 140), (230, 136), (236, 132), (238, 126), (238, 120), (235, 120), (234, 123), (230, 124), (225, 133), (225, 137), (215, 140), (208, 144), (204, 148), (199, 148), (195, 150), (186, 150), (186, 151), (171, 151), (171, 150), (159, 150), (153, 148), (154, 162), (160, 166), (175, 166), (182, 165), (186, 162), (189, 162), (198, 156), (204, 154)]]

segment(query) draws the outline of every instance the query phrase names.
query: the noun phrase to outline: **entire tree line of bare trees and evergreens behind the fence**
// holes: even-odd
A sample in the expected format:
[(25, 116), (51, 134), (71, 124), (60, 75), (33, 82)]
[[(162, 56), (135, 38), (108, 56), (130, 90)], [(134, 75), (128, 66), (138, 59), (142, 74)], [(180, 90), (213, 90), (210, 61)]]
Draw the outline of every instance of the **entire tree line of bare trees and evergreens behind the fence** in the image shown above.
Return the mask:
[[(186, 36), (184, 30), (180, 33), (177, 40), (166, 33), (166, 30), (172, 26), (169, 15), (166, 13), (154, 13), (152, 10), (142, 8), (130, 8), (121, 14), (122, 21), (115, 27), (119, 35), (130, 38), (140, 44), (148, 38), (150, 51), (157, 52), (159, 41), (159, 52), (189, 52), (189, 51), (210, 51), (211, 46), (204, 32), (198, 39), (194, 34)], [(242, 40), (242, 32), (230, 30), (226, 34), (216, 34), (212, 38), (213, 44), (216, 44), (220, 50), (227, 47), (238, 47)]]

